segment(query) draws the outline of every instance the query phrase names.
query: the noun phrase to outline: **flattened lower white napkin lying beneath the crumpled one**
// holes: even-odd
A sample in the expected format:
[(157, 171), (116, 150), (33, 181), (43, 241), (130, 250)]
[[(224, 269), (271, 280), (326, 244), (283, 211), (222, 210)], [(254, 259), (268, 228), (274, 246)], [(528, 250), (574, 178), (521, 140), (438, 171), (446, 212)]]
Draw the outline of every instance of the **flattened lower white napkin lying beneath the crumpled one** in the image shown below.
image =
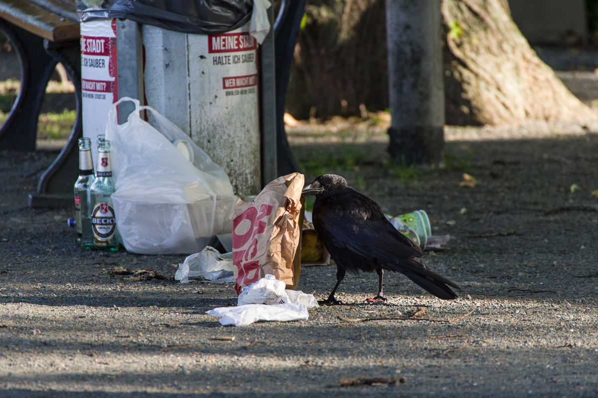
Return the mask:
[(206, 314), (220, 318), (223, 325), (247, 326), (257, 321), (294, 321), (309, 318), (307, 307), (299, 303), (247, 304), (210, 309)]

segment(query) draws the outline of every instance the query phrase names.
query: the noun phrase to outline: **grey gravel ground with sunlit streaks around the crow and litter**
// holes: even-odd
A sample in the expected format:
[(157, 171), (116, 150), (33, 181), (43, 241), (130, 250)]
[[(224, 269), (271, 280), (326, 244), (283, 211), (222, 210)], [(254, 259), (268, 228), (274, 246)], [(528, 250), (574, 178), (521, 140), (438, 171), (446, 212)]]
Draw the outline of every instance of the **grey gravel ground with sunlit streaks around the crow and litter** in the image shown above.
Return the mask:
[[(344, 305), (309, 320), (223, 327), (205, 311), (236, 302), (230, 286), (173, 281), (184, 256), (75, 247), (70, 211), (26, 206), (56, 154), (1, 153), (0, 396), (598, 395), (593, 127), (447, 128), (449, 168), (413, 177), (386, 165), (382, 127), (347, 123), (340, 140), (330, 126), (290, 129), (298, 159), (319, 159), (309, 172), (345, 175), (389, 214), (425, 209), (435, 234), (453, 236), (425, 260), (463, 287), (458, 300), (387, 273), (389, 302), (367, 304), (376, 275), (348, 275)], [(474, 188), (459, 187), (463, 172)], [(114, 266), (169, 279), (102, 272)], [(334, 274), (304, 267), (299, 288), (324, 299)], [(428, 320), (368, 320), (414, 308)], [(212, 339), (223, 336), (235, 339)], [(347, 378), (396, 385), (341, 387)]]

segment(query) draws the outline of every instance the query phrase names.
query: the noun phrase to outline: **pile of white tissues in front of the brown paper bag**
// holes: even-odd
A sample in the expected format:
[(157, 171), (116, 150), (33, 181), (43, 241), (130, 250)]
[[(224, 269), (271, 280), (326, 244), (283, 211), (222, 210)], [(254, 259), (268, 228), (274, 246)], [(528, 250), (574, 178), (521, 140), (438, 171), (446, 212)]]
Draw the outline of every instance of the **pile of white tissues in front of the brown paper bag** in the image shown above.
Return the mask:
[(309, 318), (307, 309), (318, 307), (313, 294), (285, 290), (285, 282), (274, 275), (243, 287), (236, 307), (211, 309), (206, 314), (220, 318), (223, 325), (247, 326), (257, 321), (294, 321)]

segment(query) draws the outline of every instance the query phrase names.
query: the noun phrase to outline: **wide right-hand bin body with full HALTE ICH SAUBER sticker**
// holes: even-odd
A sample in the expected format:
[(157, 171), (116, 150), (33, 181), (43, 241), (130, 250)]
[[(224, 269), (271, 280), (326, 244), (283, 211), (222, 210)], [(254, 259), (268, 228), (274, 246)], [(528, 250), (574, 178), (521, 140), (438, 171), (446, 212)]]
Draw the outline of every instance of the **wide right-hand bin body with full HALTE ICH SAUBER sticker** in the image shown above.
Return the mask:
[(257, 195), (258, 59), (249, 23), (219, 35), (144, 25), (142, 37), (148, 105), (181, 127), (224, 169), (237, 195)]

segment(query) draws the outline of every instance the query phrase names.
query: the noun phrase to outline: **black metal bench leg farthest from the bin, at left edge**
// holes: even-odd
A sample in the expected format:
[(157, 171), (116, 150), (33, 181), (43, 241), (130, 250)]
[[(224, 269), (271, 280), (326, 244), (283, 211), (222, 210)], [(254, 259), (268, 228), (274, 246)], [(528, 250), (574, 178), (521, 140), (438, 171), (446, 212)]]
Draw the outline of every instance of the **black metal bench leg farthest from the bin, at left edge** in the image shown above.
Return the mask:
[(0, 150), (35, 151), (38, 116), (45, 87), (56, 68), (56, 60), (44, 50), (44, 39), (0, 19), (19, 56), (21, 87), (17, 101), (0, 127)]

